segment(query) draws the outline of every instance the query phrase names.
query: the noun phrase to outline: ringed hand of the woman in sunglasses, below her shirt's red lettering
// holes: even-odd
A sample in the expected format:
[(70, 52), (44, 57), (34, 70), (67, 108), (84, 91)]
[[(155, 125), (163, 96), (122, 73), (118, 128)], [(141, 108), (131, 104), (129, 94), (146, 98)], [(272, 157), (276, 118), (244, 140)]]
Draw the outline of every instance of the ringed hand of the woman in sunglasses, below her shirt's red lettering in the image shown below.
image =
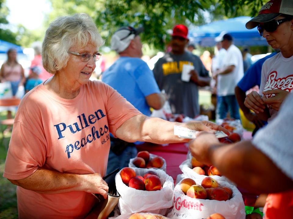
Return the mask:
[[(281, 104), (286, 99), (289, 92), (286, 90), (275, 89), (275, 90), (263, 91), (262, 94), (264, 94), (262, 98), (263, 102), (269, 106), (269, 109), (274, 109), (279, 111)], [(266, 95), (272, 95), (272, 94), (274, 94), (274, 96), (266, 98)]]

